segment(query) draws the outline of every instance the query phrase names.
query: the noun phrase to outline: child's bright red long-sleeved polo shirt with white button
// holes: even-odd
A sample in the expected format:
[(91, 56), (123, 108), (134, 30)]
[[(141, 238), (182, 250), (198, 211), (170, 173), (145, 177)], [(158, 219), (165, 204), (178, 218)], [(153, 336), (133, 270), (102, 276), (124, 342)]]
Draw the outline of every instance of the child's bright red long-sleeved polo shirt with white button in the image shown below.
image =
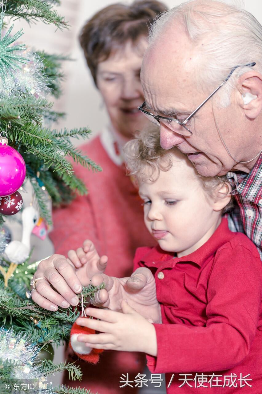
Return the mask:
[(194, 253), (143, 247), (134, 264), (155, 275), (162, 324), (154, 324), (157, 357), (147, 359), (172, 380), (167, 392), (261, 394), (262, 266), (247, 236), (222, 219)]

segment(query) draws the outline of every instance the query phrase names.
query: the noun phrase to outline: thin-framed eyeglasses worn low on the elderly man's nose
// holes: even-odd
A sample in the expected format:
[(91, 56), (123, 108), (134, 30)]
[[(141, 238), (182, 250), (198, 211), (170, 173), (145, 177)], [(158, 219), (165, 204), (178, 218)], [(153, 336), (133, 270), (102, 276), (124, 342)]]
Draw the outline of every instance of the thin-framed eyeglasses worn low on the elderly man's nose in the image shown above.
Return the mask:
[(160, 116), (160, 115), (154, 115), (153, 113), (143, 110), (143, 108), (146, 106), (146, 102), (144, 102), (140, 107), (138, 107), (138, 110), (141, 111), (151, 122), (156, 123), (157, 125), (161, 123), (163, 123), (164, 125), (166, 125), (168, 128), (170, 128), (170, 130), (172, 131), (177, 131), (176, 127), (177, 125), (183, 126), (183, 129), (179, 131), (179, 134), (183, 135), (183, 136), (191, 136), (192, 132), (186, 127), (186, 123), (188, 123), (188, 121), (197, 113), (198, 110), (200, 110), (201, 107), (203, 107), (203, 105), (210, 99), (210, 97), (212, 97), (217, 91), (218, 89), (220, 89), (220, 87), (222, 87), (223, 85), (225, 85), (225, 83), (229, 80), (229, 78), (231, 77), (232, 73), (238, 68), (238, 67), (253, 67), (255, 66), (255, 62), (253, 63), (248, 63), (248, 64), (244, 64), (244, 65), (238, 65), (236, 67), (234, 67), (230, 73), (228, 74), (227, 78), (225, 80), (223, 80), (223, 82), (221, 83), (221, 85), (219, 85), (208, 97), (207, 99), (205, 99), (203, 102), (201, 102), (201, 104), (196, 108), (196, 110), (194, 110), (192, 113), (190, 113), (190, 115), (186, 118), (186, 119), (176, 119), (174, 117), (172, 118), (168, 118), (165, 116)]

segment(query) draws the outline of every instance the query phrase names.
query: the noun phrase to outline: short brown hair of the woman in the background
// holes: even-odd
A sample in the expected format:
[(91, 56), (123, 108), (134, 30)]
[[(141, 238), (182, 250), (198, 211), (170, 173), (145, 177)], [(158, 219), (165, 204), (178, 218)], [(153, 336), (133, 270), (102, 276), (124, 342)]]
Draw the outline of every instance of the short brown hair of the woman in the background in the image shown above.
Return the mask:
[(113, 49), (127, 41), (136, 43), (141, 35), (148, 36), (155, 17), (167, 9), (157, 0), (112, 4), (85, 23), (79, 41), (95, 84), (98, 63), (108, 59)]

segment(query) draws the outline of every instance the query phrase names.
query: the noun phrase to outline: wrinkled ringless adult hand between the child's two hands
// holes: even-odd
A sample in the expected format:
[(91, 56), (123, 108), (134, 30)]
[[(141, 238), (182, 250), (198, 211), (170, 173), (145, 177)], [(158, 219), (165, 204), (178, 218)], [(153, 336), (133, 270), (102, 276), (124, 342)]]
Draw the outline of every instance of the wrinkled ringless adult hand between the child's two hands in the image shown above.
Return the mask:
[(119, 311), (122, 299), (126, 299), (129, 305), (144, 318), (150, 319), (153, 323), (161, 323), (155, 278), (150, 269), (138, 268), (131, 277), (121, 279), (103, 273), (97, 274), (92, 277), (91, 282), (93, 286), (105, 283), (105, 287), (95, 294), (93, 305)]

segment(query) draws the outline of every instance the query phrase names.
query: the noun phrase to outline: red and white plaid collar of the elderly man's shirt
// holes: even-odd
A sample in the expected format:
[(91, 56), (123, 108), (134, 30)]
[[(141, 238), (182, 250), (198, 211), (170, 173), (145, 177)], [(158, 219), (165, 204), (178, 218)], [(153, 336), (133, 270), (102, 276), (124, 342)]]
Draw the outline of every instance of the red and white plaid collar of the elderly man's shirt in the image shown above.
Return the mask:
[(230, 171), (227, 178), (231, 178), (235, 186), (231, 194), (239, 193), (249, 201), (262, 206), (262, 152), (249, 174)]

